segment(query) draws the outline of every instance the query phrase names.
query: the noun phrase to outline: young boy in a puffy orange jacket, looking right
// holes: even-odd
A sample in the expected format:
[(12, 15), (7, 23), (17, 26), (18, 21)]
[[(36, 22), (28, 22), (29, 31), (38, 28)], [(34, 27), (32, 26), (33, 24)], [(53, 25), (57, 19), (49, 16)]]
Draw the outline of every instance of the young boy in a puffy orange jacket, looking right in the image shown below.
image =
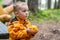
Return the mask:
[(38, 31), (38, 28), (31, 25), (27, 20), (28, 6), (25, 2), (14, 4), (14, 13), (16, 18), (13, 19), (9, 26), (9, 40), (30, 40)]

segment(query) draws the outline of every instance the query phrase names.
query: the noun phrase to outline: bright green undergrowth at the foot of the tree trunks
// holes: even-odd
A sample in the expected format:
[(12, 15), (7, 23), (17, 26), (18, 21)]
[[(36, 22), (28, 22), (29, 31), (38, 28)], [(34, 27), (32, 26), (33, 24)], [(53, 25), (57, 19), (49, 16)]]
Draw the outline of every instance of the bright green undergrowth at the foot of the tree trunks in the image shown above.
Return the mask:
[(38, 22), (44, 22), (47, 20), (53, 20), (56, 22), (60, 21), (60, 9), (54, 9), (54, 10), (38, 10), (38, 12), (35, 15), (32, 15), (33, 13), (30, 12), (29, 20), (35, 20)]

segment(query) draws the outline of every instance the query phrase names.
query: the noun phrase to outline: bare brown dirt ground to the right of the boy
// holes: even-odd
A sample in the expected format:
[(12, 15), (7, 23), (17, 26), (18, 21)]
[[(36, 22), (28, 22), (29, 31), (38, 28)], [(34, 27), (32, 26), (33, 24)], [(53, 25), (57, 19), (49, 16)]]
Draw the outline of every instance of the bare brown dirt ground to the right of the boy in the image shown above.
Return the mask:
[(39, 31), (31, 40), (60, 40), (60, 23), (32, 22), (38, 26)]

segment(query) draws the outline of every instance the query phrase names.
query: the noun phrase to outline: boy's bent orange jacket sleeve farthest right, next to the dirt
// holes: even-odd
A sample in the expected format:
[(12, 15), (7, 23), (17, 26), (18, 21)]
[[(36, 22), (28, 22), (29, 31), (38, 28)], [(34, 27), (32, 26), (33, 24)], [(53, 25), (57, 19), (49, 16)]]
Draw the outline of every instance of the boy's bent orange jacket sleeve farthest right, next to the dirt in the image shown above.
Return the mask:
[(35, 34), (38, 32), (37, 26), (31, 25), (30, 23), (27, 24), (27, 28), (29, 28), (30, 32), (32, 33), (32, 34), (28, 33), (28, 38), (33, 38)]

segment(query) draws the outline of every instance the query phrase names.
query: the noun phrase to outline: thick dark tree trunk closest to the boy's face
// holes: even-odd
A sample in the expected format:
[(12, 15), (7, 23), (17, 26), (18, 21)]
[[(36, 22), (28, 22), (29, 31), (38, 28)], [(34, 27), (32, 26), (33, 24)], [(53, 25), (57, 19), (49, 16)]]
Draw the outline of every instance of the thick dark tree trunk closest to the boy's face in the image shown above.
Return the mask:
[(28, 7), (31, 11), (37, 12), (37, 10), (38, 10), (38, 0), (28, 0)]

